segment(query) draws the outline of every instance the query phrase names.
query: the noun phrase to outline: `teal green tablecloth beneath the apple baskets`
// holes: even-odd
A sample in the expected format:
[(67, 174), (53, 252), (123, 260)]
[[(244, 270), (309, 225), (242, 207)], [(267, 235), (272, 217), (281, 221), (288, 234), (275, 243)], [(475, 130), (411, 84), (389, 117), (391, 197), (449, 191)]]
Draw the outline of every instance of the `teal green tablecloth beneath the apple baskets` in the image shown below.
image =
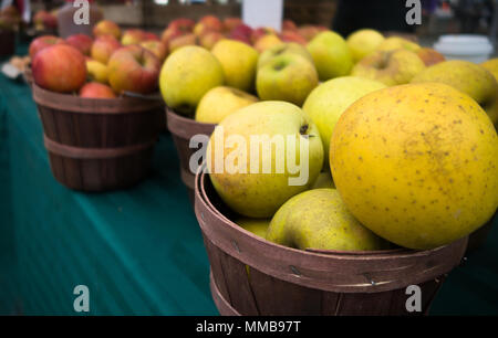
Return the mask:
[[(29, 87), (0, 75), (0, 314), (77, 315), (73, 288), (86, 285), (90, 315), (217, 315), (170, 136), (146, 181), (92, 194), (55, 181), (42, 133)], [(430, 315), (498, 315), (497, 223)]]

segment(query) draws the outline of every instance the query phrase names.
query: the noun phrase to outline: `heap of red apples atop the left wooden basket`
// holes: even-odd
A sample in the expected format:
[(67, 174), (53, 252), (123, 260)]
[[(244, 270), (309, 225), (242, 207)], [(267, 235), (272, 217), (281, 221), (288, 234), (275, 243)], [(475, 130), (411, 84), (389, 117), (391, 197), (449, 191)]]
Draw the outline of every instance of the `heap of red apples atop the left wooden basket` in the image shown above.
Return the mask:
[(122, 32), (117, 24), (105, 20), (95, 25), (92, 38), (44, 35), (33, 40), (29, 53), (39, 86), (87, 98), (156, 92), (167, 55), (157, 35), (142, 30)]

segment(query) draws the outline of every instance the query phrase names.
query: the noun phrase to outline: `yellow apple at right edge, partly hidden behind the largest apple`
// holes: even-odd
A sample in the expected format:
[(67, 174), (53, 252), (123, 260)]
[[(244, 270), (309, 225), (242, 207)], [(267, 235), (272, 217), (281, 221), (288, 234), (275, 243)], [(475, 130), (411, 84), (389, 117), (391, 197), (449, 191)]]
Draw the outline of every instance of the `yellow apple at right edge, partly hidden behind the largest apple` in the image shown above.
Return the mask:
[(412, 83), (439, 82), (453, 86), (474, 98), (498, 125), (498, 83), (485, 67), (452, 60), (435, 64), (412, 80)]

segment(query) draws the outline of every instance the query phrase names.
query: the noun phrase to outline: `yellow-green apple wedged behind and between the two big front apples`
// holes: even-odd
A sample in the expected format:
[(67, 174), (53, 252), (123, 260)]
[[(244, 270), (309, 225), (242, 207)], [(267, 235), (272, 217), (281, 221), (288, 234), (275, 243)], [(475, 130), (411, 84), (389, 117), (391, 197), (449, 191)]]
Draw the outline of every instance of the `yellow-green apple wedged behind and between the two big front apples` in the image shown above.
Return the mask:
[(383, 83), (377, 81), (344, 76), (329, 80), (311, 92), (302, 109), (320, 130), (323, 150), (325, 151), (325, 166), (332, 131), (342, 113), (360, 97), (385, 87)]

